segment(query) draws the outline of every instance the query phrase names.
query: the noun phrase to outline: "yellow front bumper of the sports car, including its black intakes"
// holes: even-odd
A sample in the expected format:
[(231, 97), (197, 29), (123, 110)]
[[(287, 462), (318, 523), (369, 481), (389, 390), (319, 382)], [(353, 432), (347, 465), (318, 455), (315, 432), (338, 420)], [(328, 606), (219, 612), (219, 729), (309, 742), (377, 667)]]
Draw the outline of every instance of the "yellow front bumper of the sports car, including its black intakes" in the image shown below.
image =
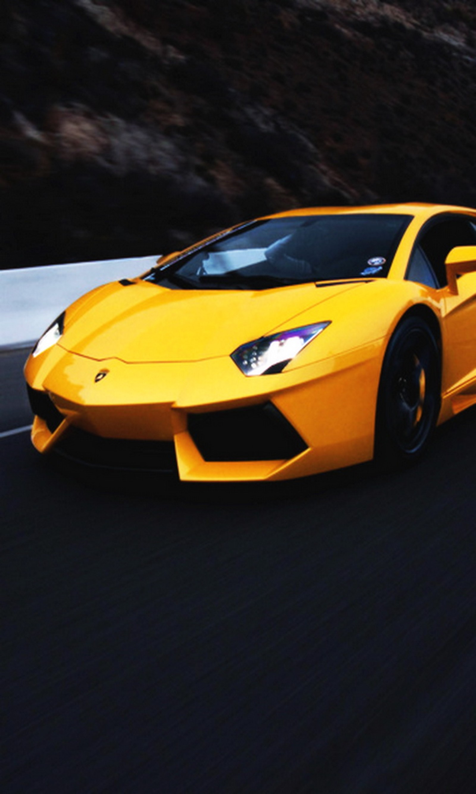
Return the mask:
[(381, 347), (246, 377), (228, 357), (126, 364), (55, 345), (25, 366), (33, 445), (108, 468), (176, 466), (182, 480), (282, 480), (367, 461)]

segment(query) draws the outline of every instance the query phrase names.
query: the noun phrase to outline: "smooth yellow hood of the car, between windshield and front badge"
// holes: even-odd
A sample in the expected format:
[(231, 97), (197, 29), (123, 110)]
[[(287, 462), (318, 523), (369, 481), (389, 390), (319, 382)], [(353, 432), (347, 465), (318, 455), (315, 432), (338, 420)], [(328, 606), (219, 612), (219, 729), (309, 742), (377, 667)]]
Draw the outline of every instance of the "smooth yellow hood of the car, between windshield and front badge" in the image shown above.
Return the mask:
[(311, 322), (332, 319), (326, 303), (360, 286), (311, 283), (241, 291), (171, 290), (146, 281), (110, 283), (67, 310), (59, 345), (97, 360), (136, 363), (228, 356), (244, 342), (298, 327), (299, 315), (313, 306)]

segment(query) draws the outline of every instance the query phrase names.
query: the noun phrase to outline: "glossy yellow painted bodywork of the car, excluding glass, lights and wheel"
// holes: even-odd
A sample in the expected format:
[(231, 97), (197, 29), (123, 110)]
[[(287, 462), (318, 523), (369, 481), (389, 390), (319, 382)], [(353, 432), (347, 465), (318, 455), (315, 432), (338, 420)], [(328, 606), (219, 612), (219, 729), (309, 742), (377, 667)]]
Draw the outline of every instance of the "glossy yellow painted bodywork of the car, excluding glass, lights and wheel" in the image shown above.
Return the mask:
[[(440, 422), (450, 418), (475, 401), (476, 274), (461, 276), (456, 292), (406, 281), (405, 272), (422, 225), (461, 209), (402, 204), (274, 216), (413, 215), (387, 279), (262, 291), (169, 290), (141, 280), (98, 287), (67, 309), (59, 343), (25, 366), (29, 385), (48, 391), (65, 416), (54, 434), (36, 417), (33, 444), (48, 452), (71, 425), (104, 437), (173, 440), (183, 480), (280, 480), (370, 460), (386, 345), (413, 306), (428, 307), (440, 323)], [(460, 259), (474, 252), (459, 249)], [(245, 342), (324, 321), (330, 325), (279, 374), (247, 377), (230, 358)], [(96, 382), (101, 370), (107, 374)], [(189, 414), (267, 401), (304, 439), (305, 452), (290, 461), (202, 459), (187, 430)]]

